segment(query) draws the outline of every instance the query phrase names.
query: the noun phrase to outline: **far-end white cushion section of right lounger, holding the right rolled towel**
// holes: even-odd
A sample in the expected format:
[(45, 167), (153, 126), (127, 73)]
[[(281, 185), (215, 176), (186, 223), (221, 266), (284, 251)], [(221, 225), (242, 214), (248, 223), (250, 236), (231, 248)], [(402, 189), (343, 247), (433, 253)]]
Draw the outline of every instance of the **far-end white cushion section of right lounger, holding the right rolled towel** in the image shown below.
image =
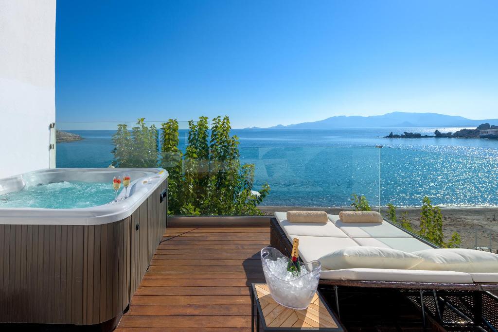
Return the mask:
[(350, 237), (412, 237), (387, 221), (382, 223), (347, 223), (342, 222), (339, 216), (335, 215), (329, 215), (329, 220)]

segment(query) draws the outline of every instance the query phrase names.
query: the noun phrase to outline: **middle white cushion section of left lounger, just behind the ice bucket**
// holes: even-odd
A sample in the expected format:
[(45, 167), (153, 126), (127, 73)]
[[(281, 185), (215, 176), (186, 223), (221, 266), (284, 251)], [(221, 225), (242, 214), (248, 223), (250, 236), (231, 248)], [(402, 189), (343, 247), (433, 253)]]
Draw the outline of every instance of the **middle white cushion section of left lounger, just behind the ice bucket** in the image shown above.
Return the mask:
[(349, 237), (292, 235), (290, 237), (291, 242), (294, 240), (294, 237), (299, 239), (299, 256), (305, 262), (318, 260), (323, 255), (341, 248), (358, 246)]

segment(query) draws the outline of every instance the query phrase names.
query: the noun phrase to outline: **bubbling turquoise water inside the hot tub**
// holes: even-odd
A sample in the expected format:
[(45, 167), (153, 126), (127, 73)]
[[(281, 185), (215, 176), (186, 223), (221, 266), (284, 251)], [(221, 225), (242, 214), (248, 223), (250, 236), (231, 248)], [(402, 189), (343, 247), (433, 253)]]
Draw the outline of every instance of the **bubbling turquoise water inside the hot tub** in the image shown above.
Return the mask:
[[(123, 190), (120, 188), (118, 193)], [(62, 181), (24, 187), (0, 195), (0, 208), (75, 209), (113, 202), (111, 182)]]

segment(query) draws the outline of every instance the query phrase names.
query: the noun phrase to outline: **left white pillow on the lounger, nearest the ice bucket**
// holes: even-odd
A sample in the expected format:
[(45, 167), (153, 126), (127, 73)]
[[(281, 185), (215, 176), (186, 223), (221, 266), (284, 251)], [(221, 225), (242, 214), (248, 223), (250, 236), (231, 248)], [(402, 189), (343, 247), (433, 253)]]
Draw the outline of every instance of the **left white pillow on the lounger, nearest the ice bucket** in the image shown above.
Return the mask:
[(318, 259), (322, 266), (329, 270), (377, 268), (377, 269), (409, 269), (423, 259), (413, 254), (380, 247), (346, 247), (333, 251)]

